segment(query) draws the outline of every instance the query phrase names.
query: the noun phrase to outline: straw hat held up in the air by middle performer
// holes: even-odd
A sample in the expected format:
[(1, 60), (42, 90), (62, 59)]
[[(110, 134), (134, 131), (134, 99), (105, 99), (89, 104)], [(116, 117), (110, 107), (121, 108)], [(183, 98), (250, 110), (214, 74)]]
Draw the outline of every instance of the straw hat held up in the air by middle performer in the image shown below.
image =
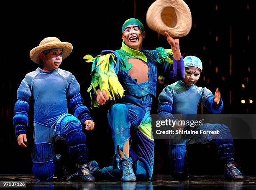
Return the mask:
[(182, 37), (189, 33), (192, 16), (183, 0), (156, 0), (148, 8), (146, 22), (149, 28), (164, 35)]

